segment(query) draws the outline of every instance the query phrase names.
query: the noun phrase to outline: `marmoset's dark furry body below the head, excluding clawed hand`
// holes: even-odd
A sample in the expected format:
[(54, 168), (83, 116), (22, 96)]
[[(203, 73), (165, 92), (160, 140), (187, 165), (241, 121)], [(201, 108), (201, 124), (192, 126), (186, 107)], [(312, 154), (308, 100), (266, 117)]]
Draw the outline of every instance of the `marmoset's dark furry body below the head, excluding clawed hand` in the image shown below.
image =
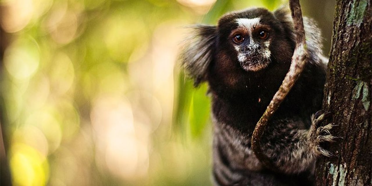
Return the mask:
[[(242, 94), (236, 99), (228, 99), (220, 98), (211, 90), (215, 185), (311, 185), (316, 155), (311, 153), (310, 141), (295, 135), (305, 134), (311, 125), (311, 114), (321, 109), (325, 71), (321, 66), (312, 68), (315, 71), (305, 73), (318, 76), (300, 77), (271, 119), (261, 142), (263, 151), (271, 153), (269, 157), (283, 171), (281, 174), (265, 169), (250, 150), (254, 126), (275, 91), (266, 92), (267, 89), (259, 88), (265, 87), (261, 84), (253, 90), (256, 93), (243, 93), (246, 96)], [(272, 77), (278, 78), (275, 75)], [(304, 81), (308, 81), (307, 85), (310, 82), (318, 84), (304, 87), (301, 86)], [(280, 84), (277, 86), (276, 90)], [(298, 144), (302, 149), (298, 148)], [(302, 161), (291, 162), (288, 158)]]

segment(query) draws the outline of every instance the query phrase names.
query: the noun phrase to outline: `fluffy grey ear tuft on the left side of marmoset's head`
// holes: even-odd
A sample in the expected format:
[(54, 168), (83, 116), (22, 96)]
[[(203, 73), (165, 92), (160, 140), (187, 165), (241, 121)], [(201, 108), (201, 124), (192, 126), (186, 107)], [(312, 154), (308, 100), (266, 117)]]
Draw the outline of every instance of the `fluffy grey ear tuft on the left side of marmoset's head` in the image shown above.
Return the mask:
[(180, 55), (183, 68), (194, 79), (194, 86), (206, 80), (207, 69), (213, 60), (217, 27), (196, 25), (193, 33), (187, 38)]

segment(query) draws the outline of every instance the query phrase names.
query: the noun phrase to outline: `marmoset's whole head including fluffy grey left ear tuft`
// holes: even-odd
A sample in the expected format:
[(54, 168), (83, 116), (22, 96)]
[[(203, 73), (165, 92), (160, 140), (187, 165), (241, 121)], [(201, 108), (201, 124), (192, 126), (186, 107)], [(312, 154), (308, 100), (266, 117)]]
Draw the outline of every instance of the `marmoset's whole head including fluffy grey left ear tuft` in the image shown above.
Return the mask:
[(195, 85), (208, 80), (219, 89), (247, 89), (255, 79), (284, 77), (295, 46), (288, 13), (253, 8), (228, 13), (217, 26), (195, 26), (182, 53)]

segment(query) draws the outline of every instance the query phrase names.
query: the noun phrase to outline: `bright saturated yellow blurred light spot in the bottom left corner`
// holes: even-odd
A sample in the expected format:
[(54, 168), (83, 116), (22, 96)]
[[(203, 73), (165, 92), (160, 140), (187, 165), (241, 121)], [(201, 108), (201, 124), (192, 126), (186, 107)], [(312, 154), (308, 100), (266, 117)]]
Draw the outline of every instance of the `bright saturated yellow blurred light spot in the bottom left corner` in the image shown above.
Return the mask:
[(22, 144), (12, 144), (10, 169), (13, 184), (19, 186), (43, 186), (49, 177), (47, 159), (34, 148)]

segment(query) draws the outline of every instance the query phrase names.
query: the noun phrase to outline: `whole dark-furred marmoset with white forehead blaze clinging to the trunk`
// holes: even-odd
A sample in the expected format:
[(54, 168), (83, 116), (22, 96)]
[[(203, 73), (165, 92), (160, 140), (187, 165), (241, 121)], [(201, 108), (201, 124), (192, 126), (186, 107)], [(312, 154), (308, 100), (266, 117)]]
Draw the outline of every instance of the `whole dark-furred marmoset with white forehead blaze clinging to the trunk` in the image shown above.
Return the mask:
[(298, 81), (264, 132), (263, 153), (279, 171), (264, 167), (251, 151), (254, 127), (289, 70), (295, 35), (288, 7), (227, 13), (217, 26), (197, 25), (181, 54), (197, 87), (207, 82), (212, 101), (214, 185), (313, 185), (315, 161), (331, 153), (333, 125), (318, 126), (327, 59), (320, 30), (304, 17), (309, 54)]

